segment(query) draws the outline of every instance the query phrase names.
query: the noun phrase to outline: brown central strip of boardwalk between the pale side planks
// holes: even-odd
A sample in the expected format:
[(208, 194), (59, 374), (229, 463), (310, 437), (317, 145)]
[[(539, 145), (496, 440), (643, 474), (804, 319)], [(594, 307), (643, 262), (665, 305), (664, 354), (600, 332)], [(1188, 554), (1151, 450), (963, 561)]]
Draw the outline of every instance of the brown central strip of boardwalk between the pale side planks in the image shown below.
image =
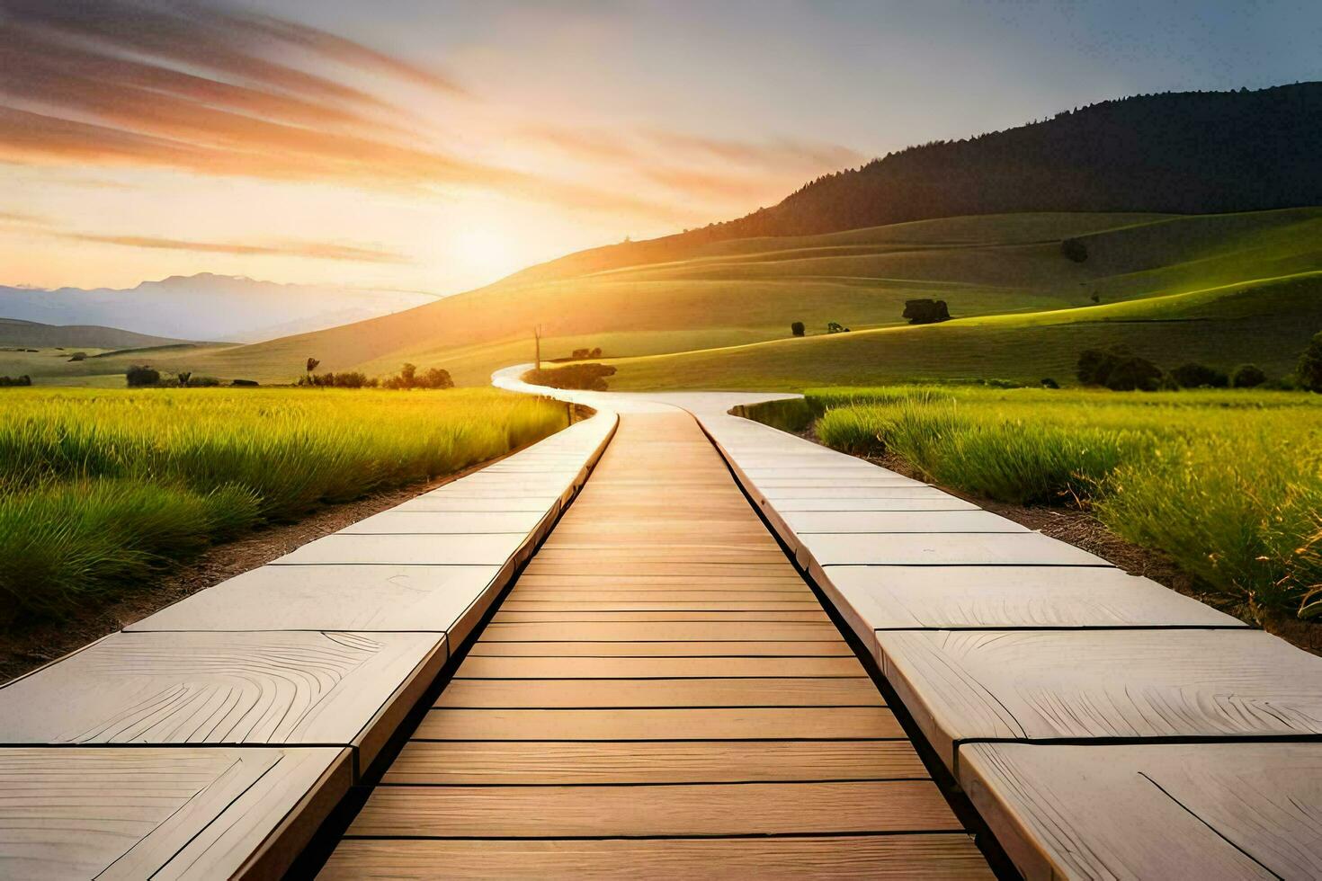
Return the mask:
[(554, 876), (992, 877), (685, 413), (621, 416), (321, 877)]

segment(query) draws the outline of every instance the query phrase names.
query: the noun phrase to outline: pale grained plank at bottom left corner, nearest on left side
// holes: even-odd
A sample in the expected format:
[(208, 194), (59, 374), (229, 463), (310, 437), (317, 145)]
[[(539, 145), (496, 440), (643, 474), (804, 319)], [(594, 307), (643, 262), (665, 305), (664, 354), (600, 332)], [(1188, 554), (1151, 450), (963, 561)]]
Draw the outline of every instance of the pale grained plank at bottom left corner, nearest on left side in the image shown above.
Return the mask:
[(278, 877), (349, 782), (336, 748), (0, 749), (0, 876)]

